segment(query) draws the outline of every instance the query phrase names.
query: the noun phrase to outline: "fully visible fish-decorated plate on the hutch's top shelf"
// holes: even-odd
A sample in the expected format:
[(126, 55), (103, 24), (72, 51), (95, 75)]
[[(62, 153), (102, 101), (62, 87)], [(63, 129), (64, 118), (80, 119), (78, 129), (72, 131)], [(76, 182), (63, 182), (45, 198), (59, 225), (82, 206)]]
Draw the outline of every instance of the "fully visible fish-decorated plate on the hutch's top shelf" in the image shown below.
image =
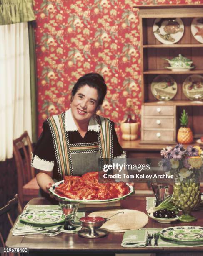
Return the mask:
[(180, 18), (156, 18), (153, 23), (153, 33), (161, 43), (175, 44), (183, 36), (183, 21)]

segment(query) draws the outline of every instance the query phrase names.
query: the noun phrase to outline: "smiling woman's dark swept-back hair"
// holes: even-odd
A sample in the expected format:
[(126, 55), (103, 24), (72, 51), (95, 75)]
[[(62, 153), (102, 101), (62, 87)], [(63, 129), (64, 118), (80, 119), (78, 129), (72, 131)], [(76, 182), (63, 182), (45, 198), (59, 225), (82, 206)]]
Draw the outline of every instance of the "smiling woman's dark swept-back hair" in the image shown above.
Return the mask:
[(102, 105), (107, 87), (103, 77), (97, 73), (88, 73), (78, 79), (71, 92), (71, 101), (80, 87), (83, 87), (85, 84), (97, 90), (99, 97), (98, 105)]

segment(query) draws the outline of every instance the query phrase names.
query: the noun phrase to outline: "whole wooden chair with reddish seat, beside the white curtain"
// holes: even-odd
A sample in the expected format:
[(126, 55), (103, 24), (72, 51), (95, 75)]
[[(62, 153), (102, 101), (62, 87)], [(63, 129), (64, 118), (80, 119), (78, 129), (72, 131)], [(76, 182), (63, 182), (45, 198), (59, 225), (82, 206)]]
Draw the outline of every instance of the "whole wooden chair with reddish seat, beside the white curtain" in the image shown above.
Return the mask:
[(35, 169), (30, 165), (32, 152), (33, 146), (27, 131), (13, 140), (13, 155), (18, 173), (18, 195), (22, 205), (38, 197), (39, 186)]

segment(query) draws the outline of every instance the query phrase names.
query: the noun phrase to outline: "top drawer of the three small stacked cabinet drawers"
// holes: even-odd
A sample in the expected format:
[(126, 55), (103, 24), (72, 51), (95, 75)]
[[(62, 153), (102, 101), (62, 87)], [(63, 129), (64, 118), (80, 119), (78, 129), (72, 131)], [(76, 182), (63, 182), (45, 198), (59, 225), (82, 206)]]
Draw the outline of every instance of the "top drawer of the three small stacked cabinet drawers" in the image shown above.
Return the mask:
[(174, 115), (173, 106), (144, 106), (144, 115)]

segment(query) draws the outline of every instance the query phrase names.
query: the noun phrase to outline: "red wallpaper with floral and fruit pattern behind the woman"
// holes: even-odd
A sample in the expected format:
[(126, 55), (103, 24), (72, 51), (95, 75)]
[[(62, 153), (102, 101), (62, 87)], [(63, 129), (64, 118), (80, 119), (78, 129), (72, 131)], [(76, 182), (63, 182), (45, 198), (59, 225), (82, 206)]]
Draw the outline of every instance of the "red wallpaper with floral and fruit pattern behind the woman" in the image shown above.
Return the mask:
[[(140, 123), (140, 36), (134, 5), (200, 3), (194, 0), (35, 0), (38, 133), (43, 121), (70, 106), (77, 79), (103, 75), (108, 93), (98, 114), (120, 123), (127, 112)], [(39, 135), (38, 134), (38, 135)]]

